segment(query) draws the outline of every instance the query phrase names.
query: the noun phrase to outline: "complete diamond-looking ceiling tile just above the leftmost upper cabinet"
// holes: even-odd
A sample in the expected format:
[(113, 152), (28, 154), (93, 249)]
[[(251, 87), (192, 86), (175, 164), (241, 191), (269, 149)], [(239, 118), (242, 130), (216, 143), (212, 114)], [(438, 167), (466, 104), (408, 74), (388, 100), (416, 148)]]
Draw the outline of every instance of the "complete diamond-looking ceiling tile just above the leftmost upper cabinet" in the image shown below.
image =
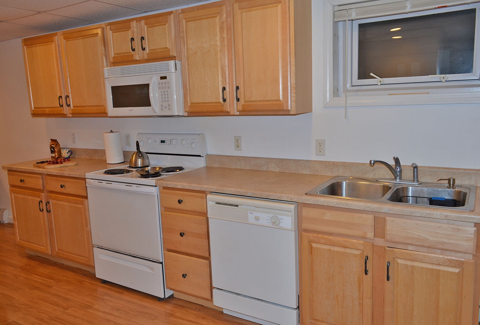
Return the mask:
[[(77, 19), (71, 17), (64, 17), (58, 15), (52, 15), (45, 12), (40, 12), (31, 16), (11, 20), (10, 23), (16, 23), (20, 25), (35, 26), (41, 28), (49, 28), (53, 30), (62, 30), (68, 28), (74, 28), (78, 26), (84, 26), (93, 21)], [(1, 30), (1, 29), (0, 29)]]

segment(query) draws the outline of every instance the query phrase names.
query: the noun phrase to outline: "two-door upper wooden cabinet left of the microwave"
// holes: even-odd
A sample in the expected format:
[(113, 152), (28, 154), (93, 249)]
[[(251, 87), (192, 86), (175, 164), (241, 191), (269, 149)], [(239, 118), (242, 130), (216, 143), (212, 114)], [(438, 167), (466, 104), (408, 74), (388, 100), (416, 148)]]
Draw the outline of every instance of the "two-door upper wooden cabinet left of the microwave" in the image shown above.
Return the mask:
[(103, 29), (90, 26), (25, 38), (33, 116), (106, 116)]

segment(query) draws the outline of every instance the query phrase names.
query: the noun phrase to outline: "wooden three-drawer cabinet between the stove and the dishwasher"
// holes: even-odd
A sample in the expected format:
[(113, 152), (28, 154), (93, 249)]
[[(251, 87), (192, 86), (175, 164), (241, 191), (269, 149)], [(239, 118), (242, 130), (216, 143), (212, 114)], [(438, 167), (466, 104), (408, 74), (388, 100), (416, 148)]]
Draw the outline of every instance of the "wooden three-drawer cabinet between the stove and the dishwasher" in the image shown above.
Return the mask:
[(160, 189), (165, 285), (212, 301), (206, 193)]

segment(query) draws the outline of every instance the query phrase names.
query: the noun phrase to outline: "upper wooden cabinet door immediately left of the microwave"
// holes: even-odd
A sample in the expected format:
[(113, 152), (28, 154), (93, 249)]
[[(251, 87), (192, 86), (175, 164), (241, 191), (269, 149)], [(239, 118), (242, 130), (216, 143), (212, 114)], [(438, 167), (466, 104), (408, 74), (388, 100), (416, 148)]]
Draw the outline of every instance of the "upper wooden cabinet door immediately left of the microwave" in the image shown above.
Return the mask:
[(101, 27), (63, 32), (60, 48), (65, 104), (72, 115), (107, 114), (104, 39)]

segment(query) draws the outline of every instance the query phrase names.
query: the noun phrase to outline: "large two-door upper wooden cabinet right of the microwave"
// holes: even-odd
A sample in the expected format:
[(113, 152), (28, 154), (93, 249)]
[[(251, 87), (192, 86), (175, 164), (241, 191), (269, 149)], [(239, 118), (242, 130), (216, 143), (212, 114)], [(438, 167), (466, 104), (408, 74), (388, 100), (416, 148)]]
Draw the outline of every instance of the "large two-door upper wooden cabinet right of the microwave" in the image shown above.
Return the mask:
[(186, 115), (312, 112), (311, 1), (225, 0), (179, 22)]

